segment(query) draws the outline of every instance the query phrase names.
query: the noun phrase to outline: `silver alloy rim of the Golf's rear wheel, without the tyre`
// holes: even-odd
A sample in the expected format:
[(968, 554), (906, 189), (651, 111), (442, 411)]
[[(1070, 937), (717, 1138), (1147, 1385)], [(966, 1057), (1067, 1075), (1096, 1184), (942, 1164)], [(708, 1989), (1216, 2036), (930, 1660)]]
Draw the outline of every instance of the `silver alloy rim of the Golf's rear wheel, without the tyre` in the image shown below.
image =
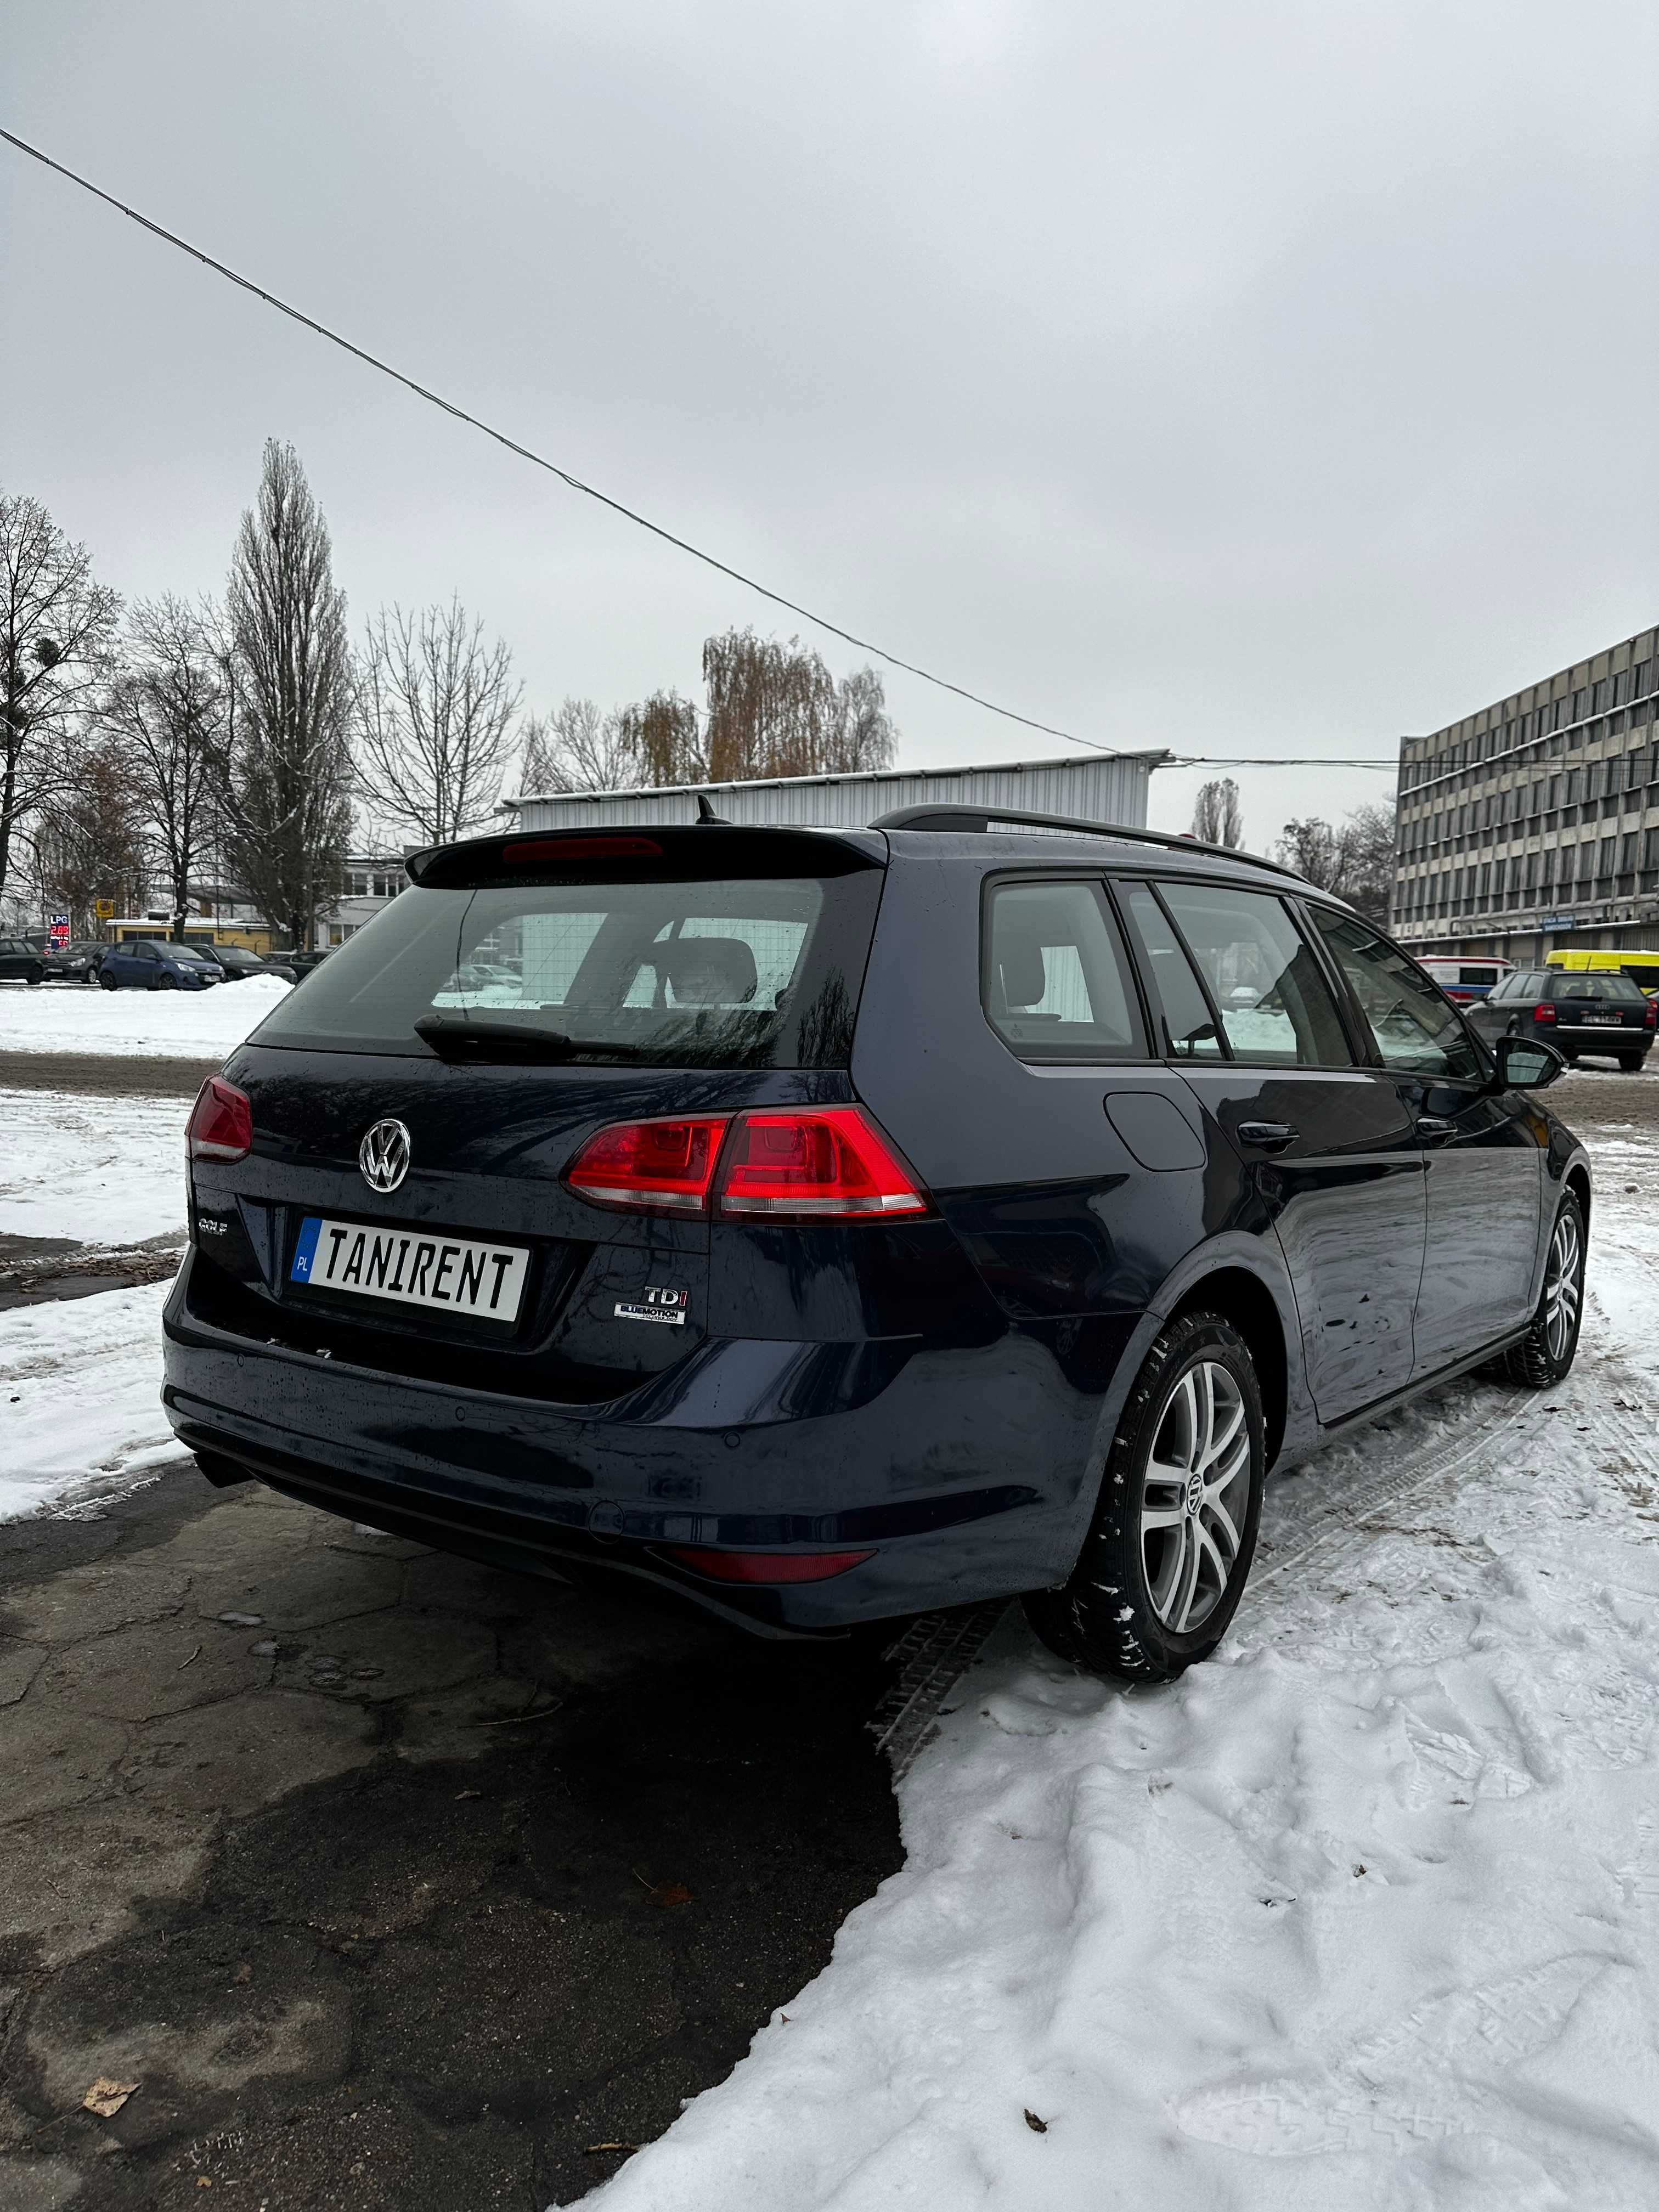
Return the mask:
[(1239, 1562), (1250, 1500), (1250, 1422), (1232, 1371), (1188, 1367), (1152, 1438), (1141, 1495), (1141, 1562), (1152, 1610), (1177, 1635), (1214, 1613)]

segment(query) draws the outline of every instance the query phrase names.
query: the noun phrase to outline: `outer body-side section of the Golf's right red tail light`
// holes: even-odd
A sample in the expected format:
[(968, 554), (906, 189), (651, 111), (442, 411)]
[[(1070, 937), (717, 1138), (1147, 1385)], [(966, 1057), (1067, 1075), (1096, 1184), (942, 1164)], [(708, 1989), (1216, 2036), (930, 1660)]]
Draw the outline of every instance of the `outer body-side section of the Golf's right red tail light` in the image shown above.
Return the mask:
[(858, 1106), (745, 1113), (721, 1157), (721, 1214), (925, 1214), (927, 1197)]

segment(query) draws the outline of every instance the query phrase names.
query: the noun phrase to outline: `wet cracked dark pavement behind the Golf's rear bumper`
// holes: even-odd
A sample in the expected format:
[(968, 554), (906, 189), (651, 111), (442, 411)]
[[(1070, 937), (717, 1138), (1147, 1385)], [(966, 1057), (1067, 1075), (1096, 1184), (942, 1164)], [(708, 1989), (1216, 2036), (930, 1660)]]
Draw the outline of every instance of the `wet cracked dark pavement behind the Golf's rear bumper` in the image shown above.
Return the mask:
[(898, 1867), (878, 1688), (195, 1469), (0, 1531), (0, 2205), (571, 2203)]

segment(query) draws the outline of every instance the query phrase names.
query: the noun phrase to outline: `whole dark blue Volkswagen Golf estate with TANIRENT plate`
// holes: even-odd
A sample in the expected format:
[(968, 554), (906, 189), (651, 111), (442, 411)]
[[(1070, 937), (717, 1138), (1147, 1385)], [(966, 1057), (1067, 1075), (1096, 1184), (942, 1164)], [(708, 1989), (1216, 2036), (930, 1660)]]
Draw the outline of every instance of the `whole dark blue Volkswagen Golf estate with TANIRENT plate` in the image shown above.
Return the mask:
[(1283, 869), (1042, 827), (411, 858), (190, 1119), (208, 1478), (770, 1635), (1018, 1593), (1146, 1681), (1221, 1639), (1270, 1467), (1566, 1374), (1559, 1055)]

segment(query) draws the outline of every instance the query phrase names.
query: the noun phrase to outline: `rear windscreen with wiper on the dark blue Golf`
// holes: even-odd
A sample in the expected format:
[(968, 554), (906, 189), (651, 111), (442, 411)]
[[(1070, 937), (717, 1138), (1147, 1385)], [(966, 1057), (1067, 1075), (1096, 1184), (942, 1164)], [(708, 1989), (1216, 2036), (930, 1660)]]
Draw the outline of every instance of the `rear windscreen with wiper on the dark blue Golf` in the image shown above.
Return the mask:
[[(416, 1022), (666, 1068), (845, 1066), (883, 876), (411, 887), (259, 1044), (427, 1053)], [(511, 1042), (511, 1040), (509, 1040)]]

